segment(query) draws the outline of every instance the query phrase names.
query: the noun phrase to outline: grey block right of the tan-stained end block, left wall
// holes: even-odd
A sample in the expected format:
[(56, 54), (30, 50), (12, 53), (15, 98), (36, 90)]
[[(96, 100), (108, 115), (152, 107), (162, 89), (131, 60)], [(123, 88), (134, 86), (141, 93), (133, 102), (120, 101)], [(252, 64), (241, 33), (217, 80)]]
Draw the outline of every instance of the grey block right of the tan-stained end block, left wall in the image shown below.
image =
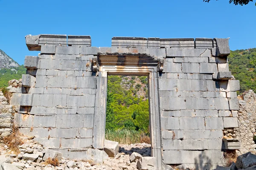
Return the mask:
[(56, 115), (35, 115), (33, 127), (55, 127)]

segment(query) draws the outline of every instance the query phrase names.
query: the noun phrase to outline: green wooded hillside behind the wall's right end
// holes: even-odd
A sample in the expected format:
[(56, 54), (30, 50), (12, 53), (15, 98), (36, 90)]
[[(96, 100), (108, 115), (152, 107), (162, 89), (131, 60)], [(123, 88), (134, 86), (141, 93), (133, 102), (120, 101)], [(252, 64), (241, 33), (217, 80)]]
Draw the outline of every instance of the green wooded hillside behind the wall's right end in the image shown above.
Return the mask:
[(249, 89), (256, 92), (256, 48), (231, 51), (228, 59), (232, 75), (240, 81), (239, 94)]

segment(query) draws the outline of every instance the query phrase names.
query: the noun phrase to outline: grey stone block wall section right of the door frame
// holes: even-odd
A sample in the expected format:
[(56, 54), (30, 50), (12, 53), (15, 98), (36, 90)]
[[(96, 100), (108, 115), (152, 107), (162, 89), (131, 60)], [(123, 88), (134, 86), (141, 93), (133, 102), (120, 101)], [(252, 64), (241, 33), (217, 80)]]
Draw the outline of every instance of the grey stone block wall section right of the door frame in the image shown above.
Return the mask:
[(233, 112), (239, 110), (239, 81), (230, 79), (227, 55), (202, 47), (207, 42), (211, 45), (210, 40), (199, 40), (198, 48), (166, 48), (166, 68), (159, 79), (165, 164), (193, 167), (200, 162), (202, 169), (220, 164), (223, 130), (238, 127)]

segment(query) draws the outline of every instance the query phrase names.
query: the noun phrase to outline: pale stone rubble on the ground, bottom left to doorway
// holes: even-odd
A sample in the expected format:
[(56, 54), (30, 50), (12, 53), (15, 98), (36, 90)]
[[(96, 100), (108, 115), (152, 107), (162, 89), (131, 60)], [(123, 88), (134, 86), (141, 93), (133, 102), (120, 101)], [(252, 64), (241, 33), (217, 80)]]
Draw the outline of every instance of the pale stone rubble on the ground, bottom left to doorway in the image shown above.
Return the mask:
[[(151, 145), (120, 144), (119, 153), (114, 158), (105, 159), (104, 164), (65, 159), (58, 152), (45, 148), (33, 139), (26, 139), (25, 143), (19, 146), (19, 151), (20, 153), (15, 154), (7, 145), (0, 147), (0, 164), (3, 170), (137, 170), (139, 159), (150, 156)], [(57, 158), (58, 165), (47, 164), (45, 161), (48, 157)]]

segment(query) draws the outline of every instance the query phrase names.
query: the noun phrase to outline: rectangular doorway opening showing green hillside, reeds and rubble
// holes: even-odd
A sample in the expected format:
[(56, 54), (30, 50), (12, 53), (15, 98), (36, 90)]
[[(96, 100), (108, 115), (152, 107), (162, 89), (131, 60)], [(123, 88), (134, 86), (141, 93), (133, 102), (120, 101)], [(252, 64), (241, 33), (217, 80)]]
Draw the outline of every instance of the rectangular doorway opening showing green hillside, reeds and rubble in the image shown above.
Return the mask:
[(119, 152), (151, 156), (148, 76), (108, 75), (105, 139)]

